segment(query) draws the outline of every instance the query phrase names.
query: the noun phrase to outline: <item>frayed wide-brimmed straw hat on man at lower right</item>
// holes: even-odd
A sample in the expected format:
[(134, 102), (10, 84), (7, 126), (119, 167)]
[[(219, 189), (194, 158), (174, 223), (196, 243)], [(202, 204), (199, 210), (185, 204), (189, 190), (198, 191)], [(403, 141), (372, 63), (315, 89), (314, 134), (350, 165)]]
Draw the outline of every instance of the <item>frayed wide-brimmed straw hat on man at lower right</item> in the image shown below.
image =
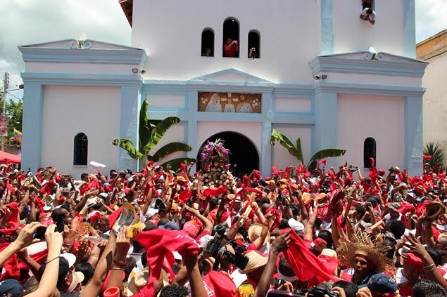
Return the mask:
[(374, 271), (383, 272), (391, 265), (385, 256), (387, 250), (386, 247), (374, 244), (365, 232), (358, 232), (350, 242), (342, 242), (336, 253), (343, 265), (352, 267), (355, 256), (363, 256), (374, 265)]

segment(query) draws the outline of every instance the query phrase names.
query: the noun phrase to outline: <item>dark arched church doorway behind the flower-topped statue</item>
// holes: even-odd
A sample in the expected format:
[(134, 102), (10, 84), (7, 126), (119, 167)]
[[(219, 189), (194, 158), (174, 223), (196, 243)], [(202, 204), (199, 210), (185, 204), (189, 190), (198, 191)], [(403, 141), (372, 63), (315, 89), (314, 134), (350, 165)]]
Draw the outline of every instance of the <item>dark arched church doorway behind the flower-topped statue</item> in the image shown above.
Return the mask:
[(204, 143), (197, 154), (197, 171), (201, 169), (200, 154), (202, 147), (208, 141), (214, 142), (221, 139), (225, 143), (225, 147), (229, 150), (229, 163), (232, 164), (230, 169), (234, 176), (241, 178), (244, 174), (250, 174), (253, 169), (259, 170), (259, 154), (256, 146), (246, 136), (233, 132), (226, 131), (214, 134)]

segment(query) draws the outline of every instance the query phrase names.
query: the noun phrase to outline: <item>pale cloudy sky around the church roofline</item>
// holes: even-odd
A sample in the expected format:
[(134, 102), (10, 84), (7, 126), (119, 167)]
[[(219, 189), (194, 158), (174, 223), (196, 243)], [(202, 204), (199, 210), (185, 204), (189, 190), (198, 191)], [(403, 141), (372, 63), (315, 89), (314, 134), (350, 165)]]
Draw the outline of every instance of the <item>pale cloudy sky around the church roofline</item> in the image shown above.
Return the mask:
[[(0, 74), (3, 79), (3, 72), (11, 73), (12, 87), (21, 84), (20, 72), (23, 71), (18, 45), (79, 37), (82, 32), (89, 39), (130, 44), (130, 26), (118, 0), (1, 2)], [(422, 41), (446, 29), (446, 15), (447, 0), (416, 0), (416, 40)], [(21, 91), (13, 94), (22, 97)]]

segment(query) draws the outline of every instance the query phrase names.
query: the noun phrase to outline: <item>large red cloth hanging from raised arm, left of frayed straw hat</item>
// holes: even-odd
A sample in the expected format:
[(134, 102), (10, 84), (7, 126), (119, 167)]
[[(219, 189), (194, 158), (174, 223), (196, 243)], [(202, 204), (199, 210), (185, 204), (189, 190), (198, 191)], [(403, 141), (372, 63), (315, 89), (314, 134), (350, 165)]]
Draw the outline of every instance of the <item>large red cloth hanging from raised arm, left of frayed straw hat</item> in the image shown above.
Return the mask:
[(290, 238), (291, 241), (287, 250), (284, 251), (284, 256), (298, 279), (304, 282), (311, 277), (315, 277), (318, 283), (328, 280), (336, 282), (338, 280), (331, 273), (327, 272), (325, 265), (308, 250), (303, 239), (293, 230), (290, 232)]

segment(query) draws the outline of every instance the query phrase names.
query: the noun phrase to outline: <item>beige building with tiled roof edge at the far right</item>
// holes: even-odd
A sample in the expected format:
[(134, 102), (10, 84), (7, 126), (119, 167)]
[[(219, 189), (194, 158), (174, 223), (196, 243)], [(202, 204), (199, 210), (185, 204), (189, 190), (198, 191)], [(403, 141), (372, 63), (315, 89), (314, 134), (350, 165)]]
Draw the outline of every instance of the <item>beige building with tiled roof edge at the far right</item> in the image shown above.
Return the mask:
[(447, 29), (417, 44), (417, 58), (429, 62), (422, 86), (424, 94), (424, 143), (439, 143), (447, 150)]

